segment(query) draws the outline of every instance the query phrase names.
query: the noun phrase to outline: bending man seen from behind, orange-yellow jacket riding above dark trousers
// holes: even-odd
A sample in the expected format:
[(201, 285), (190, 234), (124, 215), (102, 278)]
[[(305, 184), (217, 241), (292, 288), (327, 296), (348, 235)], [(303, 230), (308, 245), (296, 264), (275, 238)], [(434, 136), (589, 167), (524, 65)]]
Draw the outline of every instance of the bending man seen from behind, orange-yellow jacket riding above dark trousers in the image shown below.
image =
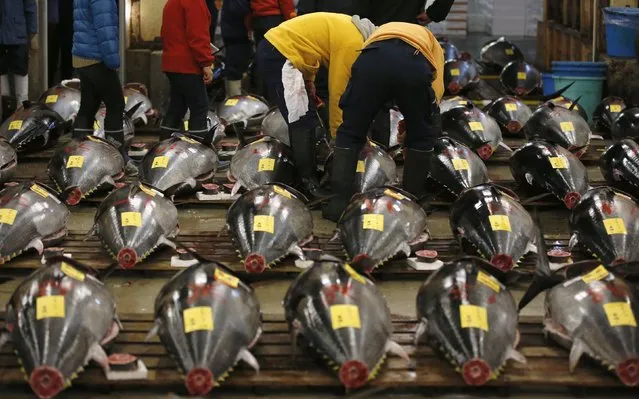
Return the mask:
[(375, 114), (395, 100), (406, 122), (404, 188), (423, 197), (435, 139), (441, 135), (439, 101), (444, 94), (444, 54), (435, 36), (416, 24), (382, 25), (364, 43), (340, 107), (332, 187), (335, 196), (323, 209), (337, 221), (355, 186), (358, 154)]

